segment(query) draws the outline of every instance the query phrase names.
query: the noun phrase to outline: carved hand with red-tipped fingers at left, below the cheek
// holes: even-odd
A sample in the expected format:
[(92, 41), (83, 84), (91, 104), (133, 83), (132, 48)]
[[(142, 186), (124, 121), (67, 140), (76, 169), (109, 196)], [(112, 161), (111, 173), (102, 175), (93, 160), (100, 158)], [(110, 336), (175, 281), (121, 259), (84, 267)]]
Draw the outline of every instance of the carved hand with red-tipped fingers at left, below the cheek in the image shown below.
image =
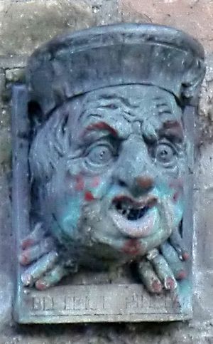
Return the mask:
[(21, 249), (20, 264), (28, 266), (21, 274), (24, 286), (34, 285), (38, 290), (44, 290), (55, 286), (67, 274), (77, 271), (77, 264), (58, 254), (53, 238), (45, 236), (40, 223), (23, 239)]

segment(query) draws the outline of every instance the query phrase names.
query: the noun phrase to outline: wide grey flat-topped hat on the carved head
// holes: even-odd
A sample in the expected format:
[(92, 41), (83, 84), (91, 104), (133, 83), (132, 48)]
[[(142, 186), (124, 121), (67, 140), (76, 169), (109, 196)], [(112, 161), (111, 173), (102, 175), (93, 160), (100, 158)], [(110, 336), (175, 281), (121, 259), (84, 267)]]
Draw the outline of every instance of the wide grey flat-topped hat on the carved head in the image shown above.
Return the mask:
[(117, 24), (53, 38), (29, 58), (30, 99), (47, 118), (65, 100), (115, 85), (155, 85), (194, 105), (204, 76), (200, 43), (175, 28)]

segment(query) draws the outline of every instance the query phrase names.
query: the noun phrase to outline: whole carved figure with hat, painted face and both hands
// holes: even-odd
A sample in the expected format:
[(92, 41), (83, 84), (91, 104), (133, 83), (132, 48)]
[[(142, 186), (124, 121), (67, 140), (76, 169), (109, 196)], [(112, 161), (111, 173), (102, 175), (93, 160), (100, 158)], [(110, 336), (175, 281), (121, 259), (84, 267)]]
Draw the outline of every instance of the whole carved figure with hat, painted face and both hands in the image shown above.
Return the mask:
[(185, 33), (142, 24), (66, 34), (33, 53), (24, 286), (43, 290), (80, 266), (132, 261), (151, 293), (185, 278), (184, 117), (203, 58)]

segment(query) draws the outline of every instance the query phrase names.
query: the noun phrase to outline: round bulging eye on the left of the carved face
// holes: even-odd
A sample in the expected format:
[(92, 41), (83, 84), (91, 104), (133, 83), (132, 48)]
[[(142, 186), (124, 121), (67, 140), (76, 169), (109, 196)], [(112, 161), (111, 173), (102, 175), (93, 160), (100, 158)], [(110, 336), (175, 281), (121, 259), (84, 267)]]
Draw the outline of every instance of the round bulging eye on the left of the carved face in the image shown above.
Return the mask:
[(111, 147), (108, 145), (98, 145), (89, 150), (87, 161), (97, 165), (106, 165), (112, 157)]

